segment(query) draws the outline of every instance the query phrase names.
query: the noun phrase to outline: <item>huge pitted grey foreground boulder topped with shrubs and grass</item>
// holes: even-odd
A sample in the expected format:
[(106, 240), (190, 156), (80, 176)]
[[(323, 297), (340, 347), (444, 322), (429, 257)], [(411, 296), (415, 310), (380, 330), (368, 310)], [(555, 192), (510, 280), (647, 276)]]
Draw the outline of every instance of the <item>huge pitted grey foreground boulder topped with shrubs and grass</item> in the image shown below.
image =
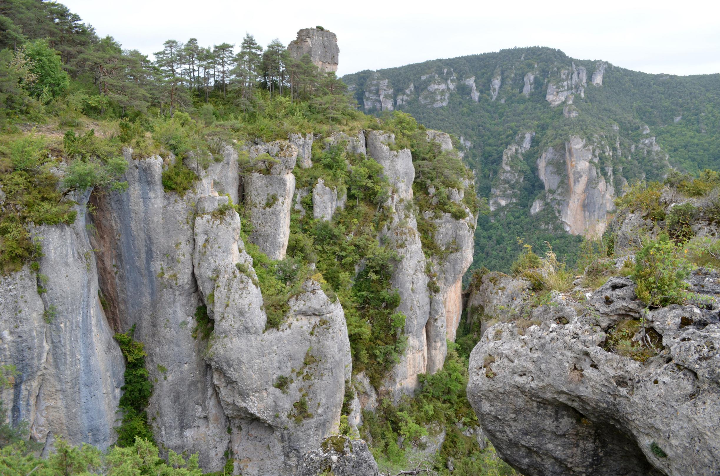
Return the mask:
[(522, 474), (720, 468), (719, 186), (706, 171), (632, 188), (579, 277), (527, 248), (515, 278), (478, 275), (468, 398)]

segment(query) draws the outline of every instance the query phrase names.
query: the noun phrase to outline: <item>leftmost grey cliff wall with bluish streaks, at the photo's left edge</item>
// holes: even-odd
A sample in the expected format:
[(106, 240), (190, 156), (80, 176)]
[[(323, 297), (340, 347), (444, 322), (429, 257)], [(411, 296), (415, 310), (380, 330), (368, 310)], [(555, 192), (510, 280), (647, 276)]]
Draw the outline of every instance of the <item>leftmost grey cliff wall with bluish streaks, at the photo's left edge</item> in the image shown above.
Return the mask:
[(27, 421), (43, 454), (56, 438), (103, 449), (114, 443), (125, 371), (99, 298), (89, 192), (72, 198), (73, 224), (33, 231), (42, 243), (37, 273), (26, 266), (0, 278), (0, 359), (17, 370), (1, 397), (11, 424)]

